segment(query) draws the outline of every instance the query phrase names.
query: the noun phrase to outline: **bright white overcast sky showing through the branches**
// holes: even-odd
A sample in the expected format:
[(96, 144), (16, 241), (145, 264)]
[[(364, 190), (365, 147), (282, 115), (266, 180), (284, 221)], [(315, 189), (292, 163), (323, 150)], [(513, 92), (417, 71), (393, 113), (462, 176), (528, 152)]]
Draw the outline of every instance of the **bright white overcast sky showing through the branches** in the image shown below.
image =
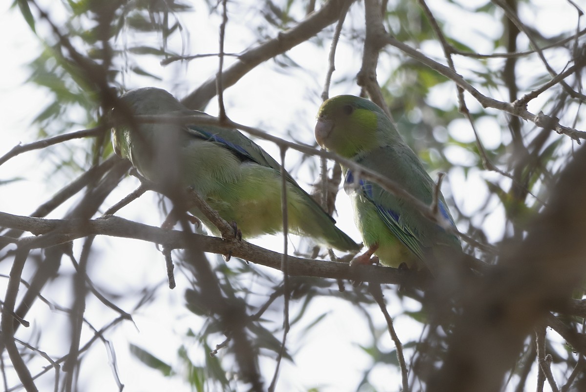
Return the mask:
[[(169, 49), (185, 54), (216, 53), (218, 29), (222, 22), (219, 13), (216, 11), (210, 13), (209, 6), (204, 1), (189, 3), (193, 6), (194, 12), (181, 13), (177, 16), (185, 30), (170, 37)], [(302, 19), (305, 2), (291, 3), (294, 4), (291, 13), (298, 20)], [(391, 3), (393, 2), (390, 1), (389, 4)], [(491, 17), (488, 13), (475, 15), (471, 12), (486, 3), (483, 0), (428, 1), (435, 17), (445, 21), (444, 33), (451, 37), (458, 37), (460, 43), (478, 53), (503, 52), (505, 50), (503, 46), (495, 47), (495, 41), (498, 41), (503, 34), (502, 13), (496, 12)], [(60, 2), (39, 1), (38, 4), (49, 12), (50, 18), (57, 26), (62, 26), (64, 20), (69, 17), (64, 12), (66, 6)], [(319, 6), (321, 2), (318, 2), (316, 8)], [(226, 53), (240, 53), (253, 46), (258, 42), (259, 34), (265, 34), (267, 37), (275, 36), (278, 30), (274, 27), (268, 28), (265, 32), (258, 32), (252, 27), (261, 25), (263, 22), (264, 17), (261, 13), (263, 7), (260, 2), (256, 5), (254, 1), (228, 2), (229, 23), (224, 47)], [(356, 85), (355, 77), (362, 63), (363, 37), (353, 36), (352, 33), (363, 32), (363, 9), (362, 2), (353, 4), (346, 19), (336, 53), (336, 71), (329, 91), (331, 97), (338, 94), (360, 94), (360, 87)], [(34, 14), (37, 15), (37, 13)], [(530, 6), (521, 2), (519, 16), (531, 26), (539, 26), (540, 33), (547, 37), (569, 36), (575, 32), (577, 26), (575, 8), (561, 0), (535, 0)], [(400, 22), (396, 21), (396, 23)], [(273, 60), (267, 61), (228, 88), (224, 93), (224, 104), (230, 119), (255, 126), (287, 140), (313, 145), (315, 143), (313, 136), (315, 113), (321, 104), (320, 95), (328, 70), (327, 59), (329, 42), (333, 35), (332, 26), (325, 32), (319, 35), (320, 40), (325, 40), (321, 46), (305, 43), (288, 51), (287, 55), (291, 64), (281, 66)], [(48, 92), (49, 90), (28, 81), (32, 73), (32, 68), (28, 64), (43, 50), (40, 41), (54, 42), (52, 32), (46, 23), (39, 21), (36, 24), (36, 33), (38, 36), (31, 31), (18, 7), (2, 10), (0, 34), (4, 39), (0, 40), (0, 47), (1, 53), (5, 53), (5, 56), (2, 61), (3, 69), (0, 72), (0, 107), (3, 108), (0, 113), (4, 123), (1, 131), (0, 156), (18, 143), (29, 143), (41, 138), (38, 124), (33, 124), (32, 121), (55, 99), (54, 95)], [(118, 49), (132, 47), (135, 44), (158, 47), (160, 42), (160, 33), (133, 34), (125, 29), (122, 29), (116, 41)], [(520, 36), (519, 50), (525, 50), (527, 46), (527, 40)], [(432, 59), (445, 63), (444, 54), (437, 41), (428, 40), (418, 49)], [(379, 83), (388, 83), (384, 86), (386, 91), (392, 93), (396, 89), (398, 95), (404, 95), (406, 94), (404, 89), (408, 86), (407, 82), (401, 80), (400, 84), (393, 85), (393, 80), (387, 81), (388, 75), (393, 73), (400, 65), (400, 61), (404, 59), (396, 54), (395, 49), (389, 49), (381, 54), (377, 68)], [(189, 62), (178, 61), (164, 67), (159, 64), (160, 60), (161, 57), (157, 56), (142, 56), (139, 60), (144, 70), (157, 75), (160, 80), (121, 69), (118, 70), (121, 71), (118, 82), (127, 90), (154, 85), (165, 88), (181, 99), (212, 77), (217, 70), (217, 57)], [(281, 60), (285, 63), (289, 61)], [(548, 53), (548, 60), (559, 72), (563, 70), (568, 57), (566, 54), (556, 56)], [(230, 66), (232, 61), (234, 60), (226, 57), (226, 66)], [(481, 69), (478, 64), (476, 59), (456, 57), (456, 68), (459, 73), (467, 80), (478, 84), (481, 84), (482, 78), (486, 76), (482, 73), (484, 70), (496, 73), (499, 67), (502, 67), (503, 60), (488, 59), (483, 63), (483, 67), (486, 67), (484, 69)], [(525, 88), (535, 88), (547, 80), (547, 78), (539, 79), (540, 75), (546, 73), (535, 57), (520, 61), (518, 66), (519, 84)], [(539, 82), (536, 82), (538, 79)], [(485, 93), (487, 91), (495, 99), (508, 101), (507, 92), (503, 88), (482, 90)], [(534, 99), (529, 105), (529, 111), (536, 113), (544, 107), (547, 108), (550, 98), (550, 95), (544, 95)], [(452, 111), (457, 106), (455, 84), (449, 82), (437, 84), (430, 89), (425, 99), (427, 104), (435, 109)], [(471, 112), (481, 112), (481, 105), (469, 95), (466, 95), (466, 102)], [(392, 106), (392, 103), (389, 103)], [(98, 105), (96, 103), (96, 106)], [(580, 127), (580, 124), (584, 125), (583, 122), (578, 121), (577, 124), (573, 124), (576, 110), (568, 109), (561, 119), (565, 120), (564, 125), (584, 130), (583, 126)], [(217, 115), (216, 98), (212, 99), (205, 111), (211, 115)], [(503, 131), (506, 129), (506, 125), (503, 125), (506, 123), (506, 116), (493, 109), (488, 109), (486, 114), (478, 116), (475, 123), (485, 149), (492, 151), (499, 149), (499, 146), (509, 145), (510, 135)], [(425, 109), (412, 108), (404, 114), (404, 118), (397, 120), (400, 123), (406, 121), (418, 123), (421, 118), (427, 118), (428, 115), (430, 114)], [(56, 124), (56, 129), (50, 129), (49, 125), (46, 129), (47, 134), (73, 132), (84, 129), (87, 124), (85, 122), (87, 114), (81, 108), (71, 109), (66, 116), (64, 123), (69, 123), (69, 128), (63, 128), (63, 123)], [(403, 131), (408, 132), (404, 129)], [(422, 135), (414, 133), (404, 136), (414, 143), (417, 149), (418, 145), (425, 146), (424, 142), (417, 141), (418, 137), (423, 137)], [(444, 181), (442, 190), (449, 204), (456, 205), (459, 211), (458, 216), (475, 215), (478, 211), (482, 211), (482, 214), (471, 216), (471, 219), (466, 221), (468, 223), (459, 223), (459, 228), (467, 232), (472, 225), (476, 226), (484, 232), (486, 243), (498, 243), (510, 226), (505, 224), (506, 214), (502, 199), (488, 197), (487, 181), (498, 183), (502, 188), (507, 189), (510, 186), (510, 180), (500, 174), (479, 168), (479, 156), (469, 148), (475, 142), (475, 136), (464, 116), (455, 118), (445, 127), (434, 129), (432, 135), (438, 142), (447, 143), (447, 147), (442, 150), (442, 155), (437, 153), (434, 155), (433, 151), (419, 153), (425, 158), (426, 163), (432, 166), (430, 174), (434, 180), (439, 171), (448, 170), (448, 177)], [(560, 136), (555, 135), (555, 137)], [(264, 140), (255, 139), (255, 141), (278, 160), (277, 146)], [(558, 151), (568, 151), (571, 147), (572, 142), (566, 137), (558, 146), (560, 149)], [(49, 200), (64, 184), (90, 167), (87, 161), (89, 149), (90, 143), (87, 139), (71, 140), (62, 145), (48, 147), (46, 150), (21, 154), (2, 164), (0, 182), (8, 182), (2, 184), (0, 188), (0, 211), (15, 215), (30, 214), (38, 205)], [(59, 169), (60, 154), (69, 154), (74, 164), (68, 164), (67, 167)], [(443, 163), (444, 161), (446, 163)], [(551, 170), (562, 164), (553, 163)], [(76, 165), (79, 167), (75, 167)], [(506, 169), (506, 165), (503, 167)], [(319, 161), (315, 157), (301, 160), (301, 154), (289, 150), (286, 168), (305, 190), (311, 191), (312, 185), (318, 181)], [(138, 185), (139, 181), (135, 177), (122, 180), (107, 198), (100, 212), (104, 212), (105, 208), (119, 201)], [(62, 218), (76, 200), (79, 200), (79, 195), (57, 208), (47, 218)], [(360, 242), (359, 233), (350, 212), (350, 204), (343, 191), (338, 195), (336, 207), (338, 215), (335, 218), (339, 228)], [(165, 214), (159, 208), (159, 197), (154, 192), (147, 192), (128, 207), (121, 209), (117, 215), (153, 226), (160, 226), (165, 219)], [(27, 234), (30, 235), (25, 233)], [(280, 236), (254, 239), (251, 242), (277, 252), (282, 250)], [(81, 244), (81, 241), (74, 242), (74, 254), (77, 256), (80, 255)], [(300, 250), (305, 251), (308, 243), (306, 240), (292, 236), (291, 245), (293, 249), (299, 246)], [(2, 257), (7, 249), (2, 250)], [(289, 252), (292, 252), (291, 249), (289, 247)], [(192, 387), (187, 380), (186, 360), (178, 354), (179, 348), (185, 348), (186, 355), (196, 365), (202, 365), (208, 353), (202, 341), (194, 338), (190, 333), (190, 331), (199, 333), (205, 325), (205, 318), (196, 316), (185, 307), (185, 290), (190, 287), (190, 277), (187, 276), (189, 271), (180, 267), (176, 268), (177, 287), (169, 290), (165, 261), (154, 244), (98, 236), (93, 252), (88, 274), (95, 286), (104, 288), (104, 291), (110, 295), (110, 300), (114, 301), (118, 307), (131, 312), (144, 296), (143, 290), (153, 289), (153, 295), (149, 297), (147, 305), (132, 312), (134, 323), (124, 321), (108, 329), (104, 335), (107, 342), (94, 343), (88, 350), (80, 367), (79, 390), (117, 390), (116, 377), (120, 377), (125, 391), (191, 390)], [(209, 259), (212, 263), (223, 263), (217, 255), (210, 254)], [(0, 273), (9, 273), (11, 266), (8, 260), (11, 258), (4, 259), (0, 263)], [(32, 263), (32, 260), (29, 261)], [(237, 263), (240, 261), (233, 260), (230, 263), (238, 266)], [(26, 266), (23, 277), (30, 276), (34, 267)], [(261, 270), (271, 277), (275, 284), (281, 279), (280, 272), (268, 267), (251, 264), (251, 268)], [(43, 294), (50, 302), (65, 308), (71, 306), (70, 277), (74, 272), (69, 260), (64, 258), (60, 276), (50, 281), (43, 290)], [(1, 293), (5, 291), (6, 281), (5, 278), (0, 280)], [(258, 293), (258, 298), (252, 298), (250, 301), (256, 305), (262, 304), (265, 296), (268, 295), (267, 288), (255, 280), (251, 280), (246, 285), (251, 291)], [(346, 286), (348, 290), (355, 290), (348, 283)], [(364, 305), (364, 308), (360, 309), (361, 305), (357, 306), (344, 300), (339, 297), (336, 287), (333, 285), (330, 289), (332, 297), (314, 298), (307, 310), (303, 308), (305, 305), (303, 299), (292, 302), (292, 318), (302, 310), (304, 313), (301, 321), (294, 324), (289, 333), (287, 348), (294, 357), (294, 362), (286, 359), (283, 361), (277, 390), (304, 391), (311, 388), (320, 391), (356, 390), (366, 374), (365, 369), (372, 366), (374, 367), (368, 375), (368, 380), (375, 390), (398, 390), (401, 381), (397, 365), (386, 363), (384, 360), (374, 363), (369, 352), (369, 348), (373, 345), (384, 353), (394, 350), (394, 343), (386, 331), (383, 315), (377, 311), (377, 306), (374, 304)], [(394, 286), (384, 286), (383, 291), (387, 310), (391, 317), (394, 317), (398, 337), (402, 342), (417, 342), (422, 333), (422, 324), (415, 321), (416, 318), (410, 317), (409, 314), (420, 311), (421, 304), (407, 297), (398, 297)], [(282, 337), (280, 325), (283, 317), (282, 297), (274, 305), (274, 309), (268, 311), (264, 317), (272, 318), (275, 338), (280, 340)], [(365, 317), (366, 314), (370, 314), (372, 319)], [(86, 317), (91, 324), (101, 328), (117, 317), (117, 314), (92, 298), (88, 299), (86, 305)], [(70, 319), (66, 312), (52, 309), (37, 301), (26, 319), (31, 322), (31, 325), (29, 328), (21, 327), (17, 337), (34, 343), (53, 358), (63, 356), (69, 351)], [(369, 325), (371, 320), (373, 325)], [(81, 344), (83, 345), (92, 335), (93, 332), (90, 329), (84, 328)], [(206, 340), (210, 345), (219, 344), (222, 341), (221, 333), (215, 333), (212, 339)], [(162, 362), (171, 365), (174, 373), (171, 376), (163, 376), (161, 371), (145, 365), (131, 354), (131, 345), (138, 346)], [(413, 352), (413, 346), (406, 349), (408, 361), (413, 356)], [(113, 353), (115, 359), (112, 357)], [(219, 356), (223, 361), (224, 370), (230, 370), (233, 359), (229, 355), (223, 355), (222, 350)], [(48, 365), (40, 356), (33, 358), (31, 363), (33, 365), (29, 369), (33, 375)], [(114, 376), (113, 363), (117, 376)], [(260, 366), (264, 381), (268, 385), (274, 372), (274, 356), (261, 357)], [(47, 372), (46, 376), (38, 381), (39, 389), (52, 390), (53, 377), (52, 370)], [(64, 377), (63, 373), (62, 377)], [(532, 382), (534, 381), (527, 383), (530, 389), (534, 388)], [(17, 384), (18, 379), (15, 374), (8, 372), (8, 386)], [(233, 384), (233, 387), (236, 385)], [(238, 388), (245, 390), (242, 385)], [(414, 388), (417, 390), (418, 386)]]

